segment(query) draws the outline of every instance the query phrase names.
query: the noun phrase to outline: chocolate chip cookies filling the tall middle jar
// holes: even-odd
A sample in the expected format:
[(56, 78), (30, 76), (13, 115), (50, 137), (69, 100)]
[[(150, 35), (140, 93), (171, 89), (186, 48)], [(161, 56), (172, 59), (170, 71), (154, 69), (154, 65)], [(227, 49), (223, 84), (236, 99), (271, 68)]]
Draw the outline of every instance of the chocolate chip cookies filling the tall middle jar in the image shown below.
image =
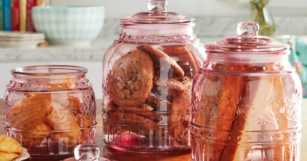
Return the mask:
[(159, 135), (189, 145), (192, 79), (202, 61), (187, 45), (158, 48), (139, 46), (112, 64), (104, 86), (110, 101), (105, 104), (115, 108), (112, 121), (134, 124), (126, 130), (153, 137), (158, 135), (158, 123), (165, 123), (169, 130)]

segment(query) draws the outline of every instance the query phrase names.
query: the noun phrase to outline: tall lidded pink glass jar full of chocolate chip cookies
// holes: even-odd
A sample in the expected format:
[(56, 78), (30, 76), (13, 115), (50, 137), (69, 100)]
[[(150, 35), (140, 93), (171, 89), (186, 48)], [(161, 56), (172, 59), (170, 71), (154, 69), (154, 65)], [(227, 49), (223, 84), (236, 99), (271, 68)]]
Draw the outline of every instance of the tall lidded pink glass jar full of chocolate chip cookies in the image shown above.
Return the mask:
[(194, 18), (148, 12), (121, 19), (122, 33), (103, 59), (103, 140), (122, 151), (190, 150), (192, 79), (204, 62)]

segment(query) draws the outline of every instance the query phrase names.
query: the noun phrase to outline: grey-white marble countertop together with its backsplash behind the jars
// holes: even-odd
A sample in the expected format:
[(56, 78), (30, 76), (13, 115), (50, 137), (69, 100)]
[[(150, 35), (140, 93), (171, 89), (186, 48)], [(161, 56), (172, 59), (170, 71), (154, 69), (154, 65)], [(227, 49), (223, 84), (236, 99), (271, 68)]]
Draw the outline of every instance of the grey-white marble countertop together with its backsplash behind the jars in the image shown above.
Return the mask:
[[(194, 33), (207, 43), (224, 36), (235, 35), (235, 25), (250, 20), (243, 16), (196, 16)], [(306, 35), (307, 16), (274, 16), (276, 35)], [(88, 46), (49, 45), (45, 48), (0, 48), (0, 62), (86, 60), (101, 61), (107, 48), (121, 33), (119, 18), (106, 17), (104, 27), (96, 40)]]

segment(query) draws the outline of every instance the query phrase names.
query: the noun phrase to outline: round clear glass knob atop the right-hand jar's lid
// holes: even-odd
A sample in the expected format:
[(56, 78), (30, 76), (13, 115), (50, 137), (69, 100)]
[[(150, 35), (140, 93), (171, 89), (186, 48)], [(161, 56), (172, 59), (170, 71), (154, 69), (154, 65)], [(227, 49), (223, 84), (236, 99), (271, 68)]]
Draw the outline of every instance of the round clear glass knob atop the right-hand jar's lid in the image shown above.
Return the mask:
[(257, 38), (259, 25), (252, 21), (240, 22), (236, 26), (238, 38)]

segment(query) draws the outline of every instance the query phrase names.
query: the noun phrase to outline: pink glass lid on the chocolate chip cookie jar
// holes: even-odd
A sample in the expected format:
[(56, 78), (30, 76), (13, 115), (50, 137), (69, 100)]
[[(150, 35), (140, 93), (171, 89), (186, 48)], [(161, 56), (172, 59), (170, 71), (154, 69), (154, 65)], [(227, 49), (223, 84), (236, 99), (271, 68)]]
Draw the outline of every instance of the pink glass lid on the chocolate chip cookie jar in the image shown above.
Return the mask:
[(148, 12), (139, 12), (132, 16), (122, 18), (126, 24), (177, 24), (194, 23), (195, 18), (184, 16), (177, 12), (167, 12), (166, 0), (148, 0)]

